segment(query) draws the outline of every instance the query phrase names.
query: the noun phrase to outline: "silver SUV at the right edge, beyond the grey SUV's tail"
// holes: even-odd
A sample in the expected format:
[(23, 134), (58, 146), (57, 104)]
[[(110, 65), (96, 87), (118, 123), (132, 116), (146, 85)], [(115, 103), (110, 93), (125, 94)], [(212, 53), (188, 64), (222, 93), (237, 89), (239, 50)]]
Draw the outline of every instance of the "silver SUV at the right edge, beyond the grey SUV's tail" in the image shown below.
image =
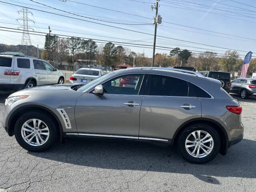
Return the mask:
[(249, 96), (256, 96), (256, 79), (237, 78), (232, 81), (229, 92), (240, 94), (243, 99), (247, 99)]

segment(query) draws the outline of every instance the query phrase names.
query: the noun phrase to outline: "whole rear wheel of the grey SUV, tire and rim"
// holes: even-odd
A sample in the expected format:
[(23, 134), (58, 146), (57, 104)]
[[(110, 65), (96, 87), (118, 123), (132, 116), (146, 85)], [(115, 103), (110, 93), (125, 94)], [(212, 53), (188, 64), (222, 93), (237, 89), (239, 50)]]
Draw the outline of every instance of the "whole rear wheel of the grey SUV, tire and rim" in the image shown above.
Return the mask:
[(178, 150), (188, 162), (204, 164), (220, 151), (220, 137), (208, 124), (190, 125), (178, 138)]

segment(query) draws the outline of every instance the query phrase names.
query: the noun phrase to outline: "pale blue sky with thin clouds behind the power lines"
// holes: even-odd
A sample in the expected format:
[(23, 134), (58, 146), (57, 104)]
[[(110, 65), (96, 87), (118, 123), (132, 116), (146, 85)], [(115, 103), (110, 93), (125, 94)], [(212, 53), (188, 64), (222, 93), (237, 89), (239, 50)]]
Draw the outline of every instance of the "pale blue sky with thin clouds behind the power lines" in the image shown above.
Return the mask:
[[(4, 2), (18, 6), (5, 4)], [(101, 40), (106, 42), (115, 41), (114, 44), (126, 42), (153, 45), (154, 25), (152, 25), (152, 18), (155, 16), (155, 10), (152, 11), (151, 6), (154, 2), (154, 0), (0, 0), (0, 27), (17, 28), (19, 25), (22, 26), (22, 20), (18, 20), (18, 22), (16, 20), (22, 18), (22, 13), (17, 11), (22, 10), (22, 7), (19, 6), (26, 6), (73, 17), (68, 18), (29, 9), (33, 15), (29, 13), (28, 17), (34, 20), (35, 23), (29, 21), (28, 25), (36, 32), (48, 33), (48, 26), (50, 26), (51, 33), (60, 36), (92, 38), (98, 42), (103, 42)], [(213, 51), (220, 56), (228, 49), (238, 50), (241, 58), (244, 58), (247, 52), (252, 51), (254, 53), (253, 57), (256, 56), (255, 0), (160, 0), (158, 14), (162, 16), (162, 24), (157, 27), (156, 46), (166, 47), (161, 48), (166, 50), (157, 47), (156, 53), (169, 54), (172, 48), (179, 47), (191, 50), (194, 53)], [(0, 29), (6, 30), (4, 28)], [(30, 34), (30, 38), (32, 45), (44, 48), (44, 36)], [(21, 39), (22, 33), (0, 31), (0, 43), (16, 45), (21, 44)], [(152, 48), (128, 47), (131, 51), (144, 52), (146, 56), (152, 57)]]

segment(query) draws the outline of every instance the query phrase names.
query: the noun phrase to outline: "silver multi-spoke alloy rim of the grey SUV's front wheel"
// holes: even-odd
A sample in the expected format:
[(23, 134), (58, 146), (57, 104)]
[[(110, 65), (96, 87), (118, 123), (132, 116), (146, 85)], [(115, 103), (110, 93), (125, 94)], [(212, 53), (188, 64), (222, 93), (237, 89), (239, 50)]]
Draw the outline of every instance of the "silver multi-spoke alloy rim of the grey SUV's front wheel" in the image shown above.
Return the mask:
[(21, 128), (21, 135), (24, 141), (31, 146), (40, 146), (49, 138), (49, 128), (39, 119), (27, 120)]

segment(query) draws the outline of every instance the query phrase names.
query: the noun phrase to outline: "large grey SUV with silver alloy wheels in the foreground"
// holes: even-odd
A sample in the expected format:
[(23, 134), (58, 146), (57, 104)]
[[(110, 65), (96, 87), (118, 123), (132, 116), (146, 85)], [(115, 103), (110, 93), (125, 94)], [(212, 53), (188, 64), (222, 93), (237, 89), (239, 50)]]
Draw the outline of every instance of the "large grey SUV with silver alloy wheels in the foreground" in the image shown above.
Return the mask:
[[(127, 77), (137, 79), (136, 85), (114, 83)], [(69, 136), (119, 138), (171, 144), (189, 162), (202, 164), (242, 140), (241, 112), (218, 80), (141, 67), (116, 70), (85, 85), (15, 92), (0, 117), (8, 135), (29, 151), (42, 152)]]

